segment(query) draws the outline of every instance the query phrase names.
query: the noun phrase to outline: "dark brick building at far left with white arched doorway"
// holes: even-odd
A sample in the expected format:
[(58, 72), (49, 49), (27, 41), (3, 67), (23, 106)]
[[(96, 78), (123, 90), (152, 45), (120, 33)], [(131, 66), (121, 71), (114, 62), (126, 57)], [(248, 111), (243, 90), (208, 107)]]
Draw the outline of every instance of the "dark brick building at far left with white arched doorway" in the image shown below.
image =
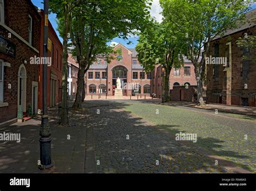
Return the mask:
[(39, 56), (40, 19), (30, 0), (0, 1), (0, 123), (16, 122), (18, 105), (36, 112), (38, 65), (30, 59)]

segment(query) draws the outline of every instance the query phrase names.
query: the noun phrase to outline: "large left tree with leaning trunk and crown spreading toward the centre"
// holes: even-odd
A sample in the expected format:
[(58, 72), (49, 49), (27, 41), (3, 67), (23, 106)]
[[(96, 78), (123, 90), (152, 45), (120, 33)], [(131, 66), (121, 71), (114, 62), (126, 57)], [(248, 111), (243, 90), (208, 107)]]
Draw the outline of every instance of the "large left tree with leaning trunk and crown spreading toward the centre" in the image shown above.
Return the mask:
[(77, 6), (72, 13), (72, 55), (79, 64), (78, 86), (73, 108), (80, 108), (84, 100), (84, 74), (96, 58), (110, 62), (116, 51), (107, 43), (115, 37), (127, 39), (149, 19), (146, 0), (98, 1)]

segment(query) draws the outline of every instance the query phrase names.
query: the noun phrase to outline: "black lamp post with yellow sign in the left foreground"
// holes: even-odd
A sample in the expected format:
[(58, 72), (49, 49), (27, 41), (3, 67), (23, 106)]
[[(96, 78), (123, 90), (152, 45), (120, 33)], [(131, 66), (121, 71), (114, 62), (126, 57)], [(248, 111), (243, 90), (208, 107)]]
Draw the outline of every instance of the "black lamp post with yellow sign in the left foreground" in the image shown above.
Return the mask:
[[(49, 0), (44, 0), (44, 41), (43, 41), (43, 56), (48, 56), (48, 9)], [(47, 63), (43, 63), (43, 115), (40, 127), (39, 139), (40, 142), (40, 165), (39, 168), (51, 168), (51, 131), (48, 124), (47, 115)]]

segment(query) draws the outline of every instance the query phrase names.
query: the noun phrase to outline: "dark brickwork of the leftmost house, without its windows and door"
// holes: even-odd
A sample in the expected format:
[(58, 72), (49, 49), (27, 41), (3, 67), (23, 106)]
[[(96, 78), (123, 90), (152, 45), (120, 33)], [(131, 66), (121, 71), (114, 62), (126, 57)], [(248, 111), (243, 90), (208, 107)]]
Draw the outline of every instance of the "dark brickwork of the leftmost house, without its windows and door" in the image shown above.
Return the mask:
[[(25, 0), (4, 1), (4, 5), (5, 25), (26, 41), (29, 37), (28, 14), (31, 15), (33, 18), (32, 46), (38, 49), (40, 17), (32, 3)], [(24, 63), (24, 60), (27, 61), (24, 64), (26, 69), (26, 109), (32, 101), (32, 81), (38, 82), (38, 65), (30, 65), (29, 61), (31, 57), (39, 54), (14, 34), (11, 34), (11, 38), (8, 38), (9, 33), (11, 32), (0, 26), (0, 36), (16, 45), (16, 55), (14, 57), (0, 53), (0, 59), (11, 64), (11, 67), (4, 67), (4, 102), (8, 103), (8, 106), (0, 107), (0, 123), (17, 117), (18, 69)], [(11, 89), (8, 89), (8, 84), (11, 84)]]

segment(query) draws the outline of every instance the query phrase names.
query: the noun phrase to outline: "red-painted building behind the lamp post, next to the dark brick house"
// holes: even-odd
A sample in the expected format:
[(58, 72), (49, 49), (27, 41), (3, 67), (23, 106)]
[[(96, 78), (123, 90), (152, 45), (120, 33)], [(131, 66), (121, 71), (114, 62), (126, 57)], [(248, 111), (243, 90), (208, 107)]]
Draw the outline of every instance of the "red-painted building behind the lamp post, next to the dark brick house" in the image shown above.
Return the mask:
[[(43, 45), (43, 26), (44, 26), (44, 12), (41, 11), (41, 30), (39, 44)], [(48, 39), (51, 42), (51, 48), (48, 49), (48, 57), (51, 58), (51, 65), (48, 66), (47, 71), (47, 106), (53, 107), (59, 103), (59, 86), (62, 85), (62, 52), (63, 46), (60, 42), (55, 30), (50, 21), (48, 22)], [(39, 56), (43, 57), (43, 46), (39, 47)], [(39, 93), (38, 93), (38, 109), (43, 109), (43, 65), (39, 65)]]

